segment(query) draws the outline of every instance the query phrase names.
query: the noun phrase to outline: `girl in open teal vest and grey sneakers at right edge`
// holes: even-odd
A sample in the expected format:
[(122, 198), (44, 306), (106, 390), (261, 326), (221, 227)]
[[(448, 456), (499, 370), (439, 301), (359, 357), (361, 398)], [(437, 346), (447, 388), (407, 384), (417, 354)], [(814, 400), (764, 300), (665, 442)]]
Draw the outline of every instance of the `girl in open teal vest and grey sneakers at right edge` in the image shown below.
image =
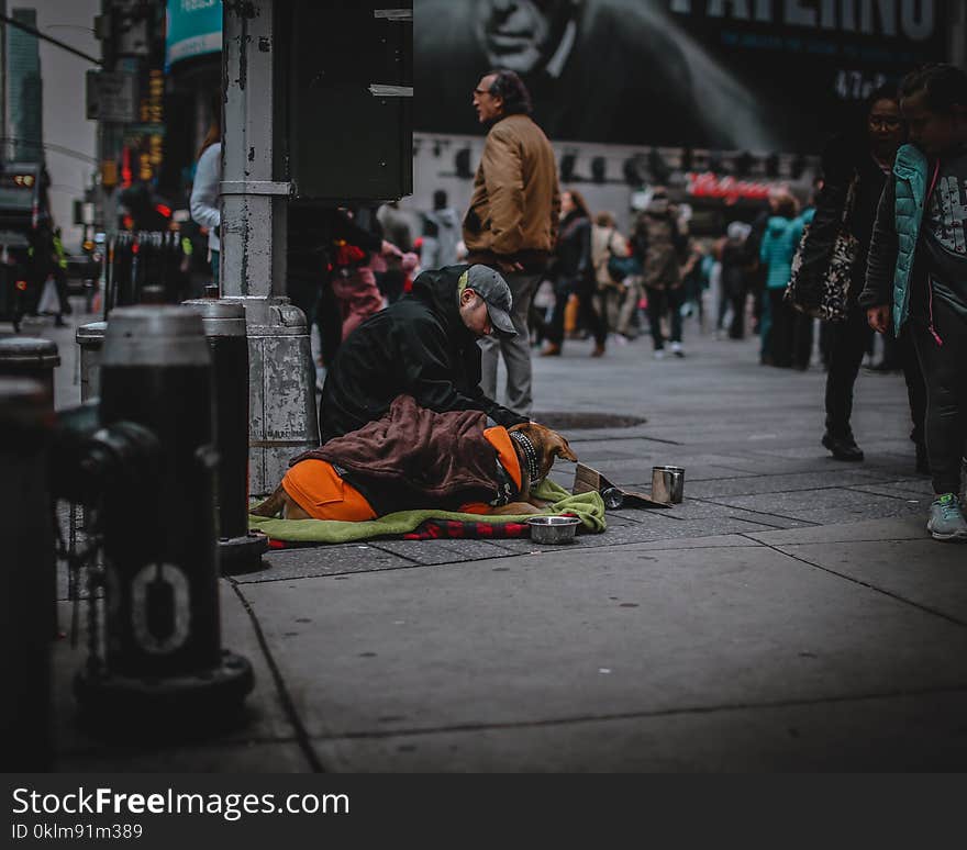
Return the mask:
[(936, 499), (927, 530), (967, 541), (960, 463), (967, 444), (967, 72), (929, 65), (903, 79), (911, 144), (877, 208), (866, 287), (870, 326), (911, 333), (926, 381), (926, 451)]

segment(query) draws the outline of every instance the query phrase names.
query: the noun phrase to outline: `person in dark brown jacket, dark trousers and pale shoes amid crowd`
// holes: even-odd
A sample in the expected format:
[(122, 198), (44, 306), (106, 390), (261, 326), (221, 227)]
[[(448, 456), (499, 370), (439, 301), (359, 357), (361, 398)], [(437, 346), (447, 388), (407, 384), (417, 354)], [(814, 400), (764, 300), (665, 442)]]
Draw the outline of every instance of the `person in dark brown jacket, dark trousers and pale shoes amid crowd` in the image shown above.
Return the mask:
[(685, 357), (681, 346), (681, 305), (683, 303), (681, 257), (688, 247), (675, 208), (663, 187), (655, 189), (641, 212), (632, 236), (632, 249), (642, 265), (642, 282), (648, 300), (648, 323), (655, 358), (665, 357), (662, 318), (670, 318), (671, 353)]

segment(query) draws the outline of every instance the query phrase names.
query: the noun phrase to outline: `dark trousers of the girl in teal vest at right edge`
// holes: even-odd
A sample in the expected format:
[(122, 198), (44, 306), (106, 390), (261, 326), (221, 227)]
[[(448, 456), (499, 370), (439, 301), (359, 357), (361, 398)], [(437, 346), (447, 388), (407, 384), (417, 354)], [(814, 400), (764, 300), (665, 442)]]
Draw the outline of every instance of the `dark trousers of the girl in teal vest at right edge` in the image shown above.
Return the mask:
[(960, 456), (967, 437), (967, 321), (936, 298), (933, 318), (943, 345), (922, 321), (913, 326), (913, 342), (926, 383), (926, 452), (933, 489), (940, 495), (960, 491)]

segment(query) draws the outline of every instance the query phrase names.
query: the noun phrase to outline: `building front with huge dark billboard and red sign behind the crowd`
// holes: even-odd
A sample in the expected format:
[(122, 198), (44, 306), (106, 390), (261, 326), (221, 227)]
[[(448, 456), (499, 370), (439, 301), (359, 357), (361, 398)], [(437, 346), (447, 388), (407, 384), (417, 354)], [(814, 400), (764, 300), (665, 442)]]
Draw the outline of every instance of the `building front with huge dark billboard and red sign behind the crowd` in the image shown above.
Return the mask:
[(564, 184), (626, 226), (667, 184), (697, 232), (753, 217), (769, 188), (801, 200), (818, 154), (878, 86), (964, 64), (963, 0), (415, 0), (415, 187), (466, 205), (485, 128), (470, 94), (521, 74)]

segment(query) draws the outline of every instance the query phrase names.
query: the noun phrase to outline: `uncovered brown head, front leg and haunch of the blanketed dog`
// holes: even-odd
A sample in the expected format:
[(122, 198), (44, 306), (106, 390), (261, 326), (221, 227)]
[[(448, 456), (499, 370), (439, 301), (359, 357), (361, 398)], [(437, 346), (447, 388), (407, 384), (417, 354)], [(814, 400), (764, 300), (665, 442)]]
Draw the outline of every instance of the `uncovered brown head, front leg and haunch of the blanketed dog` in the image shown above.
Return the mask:
[[(521, 467), (519, 501), (498, 507), (491, 506), (487, 513), (499, 516), (540, 513), (547, 503), (532, 497), (532, 488), (535, 488), (547, 477), (556, 458), (577, 462), (577, 455), (571, 451), (567, 440), (560, 434), (538, 425), (536, 422), (513, 425), (508, 428), (508, 432), (511, 434), (511, 444)], [(453, 510), (456, 507), (455, 505)], [(252, 508), (249, 513), (256, 516), (279, 516), (281, 514), (284, 519), (311, 518), (302, 506), (286, 492), (281, 482), (265, 502)]]

